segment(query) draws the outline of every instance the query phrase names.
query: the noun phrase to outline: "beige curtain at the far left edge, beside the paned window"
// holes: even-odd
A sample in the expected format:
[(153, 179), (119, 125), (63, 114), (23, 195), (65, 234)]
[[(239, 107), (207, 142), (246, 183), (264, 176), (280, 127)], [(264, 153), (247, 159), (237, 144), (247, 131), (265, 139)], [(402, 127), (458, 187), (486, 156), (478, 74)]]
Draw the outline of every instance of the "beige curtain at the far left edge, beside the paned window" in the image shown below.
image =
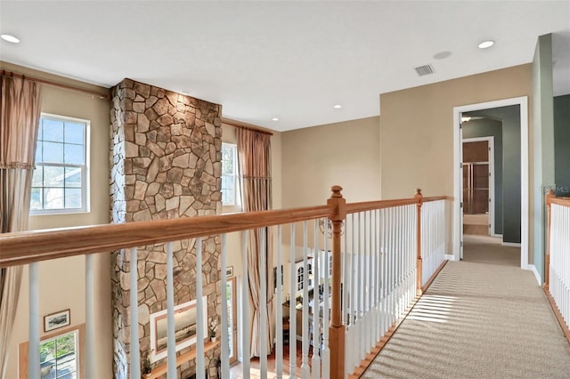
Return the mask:
[[(17, 77), (0, 79), (0, 232), (7, 233), (28, 229), (40, 86)], [(0, 377), (8, 364), (21, 272), (21, 266), (0, 269)]]

